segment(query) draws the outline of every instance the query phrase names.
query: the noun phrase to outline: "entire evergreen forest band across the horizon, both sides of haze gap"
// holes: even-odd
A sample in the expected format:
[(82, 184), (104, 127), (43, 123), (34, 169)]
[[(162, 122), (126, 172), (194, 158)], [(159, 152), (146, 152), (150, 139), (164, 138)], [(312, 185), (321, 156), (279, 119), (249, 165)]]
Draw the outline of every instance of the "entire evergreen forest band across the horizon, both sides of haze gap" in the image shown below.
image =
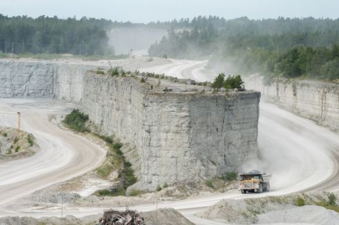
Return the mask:
[(194, 17), (144, 24), (0, 14), (0, 52), (114, 55), (112, 28), (167, 29), (149, 55), (209, 59), (218, 72), (339, 79), (339, 19)]

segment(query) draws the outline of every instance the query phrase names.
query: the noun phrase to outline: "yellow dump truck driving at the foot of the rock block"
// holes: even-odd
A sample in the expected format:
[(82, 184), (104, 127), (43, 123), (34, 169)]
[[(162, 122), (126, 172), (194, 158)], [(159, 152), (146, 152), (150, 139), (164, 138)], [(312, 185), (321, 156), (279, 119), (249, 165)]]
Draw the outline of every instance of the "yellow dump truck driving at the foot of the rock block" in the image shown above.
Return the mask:
[(271, 175), (266, 175), (266, 173), (261, 173), (258, 170), (252, 170), (248, 173), (239, 173), (239, 190), (242, 194), (246, 192), (255, 191), (257, 193), (262, 193), (264, 191), (270, 191), (270, 179)]

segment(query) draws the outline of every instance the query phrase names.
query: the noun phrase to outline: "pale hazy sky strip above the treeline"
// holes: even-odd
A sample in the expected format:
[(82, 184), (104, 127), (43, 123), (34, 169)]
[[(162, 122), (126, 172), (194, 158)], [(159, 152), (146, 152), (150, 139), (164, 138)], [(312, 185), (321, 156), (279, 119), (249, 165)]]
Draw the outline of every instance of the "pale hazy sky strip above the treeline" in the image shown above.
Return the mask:
[(338, 0), (0, 0), (8, 16), (42, 14), (66, 18), (95, 17), (113, 21), (167, 21), (216, 15), (233, 19), (339, 17)]

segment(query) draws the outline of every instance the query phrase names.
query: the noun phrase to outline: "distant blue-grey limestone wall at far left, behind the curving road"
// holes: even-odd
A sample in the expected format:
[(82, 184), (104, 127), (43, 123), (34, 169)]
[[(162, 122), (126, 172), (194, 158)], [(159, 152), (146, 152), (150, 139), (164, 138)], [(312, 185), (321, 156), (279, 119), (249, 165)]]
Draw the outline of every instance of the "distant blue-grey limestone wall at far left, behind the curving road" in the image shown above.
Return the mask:
[(0, 97), (82, 99), (82, 78), (95, 66), (51, 61), (0, 61)]

